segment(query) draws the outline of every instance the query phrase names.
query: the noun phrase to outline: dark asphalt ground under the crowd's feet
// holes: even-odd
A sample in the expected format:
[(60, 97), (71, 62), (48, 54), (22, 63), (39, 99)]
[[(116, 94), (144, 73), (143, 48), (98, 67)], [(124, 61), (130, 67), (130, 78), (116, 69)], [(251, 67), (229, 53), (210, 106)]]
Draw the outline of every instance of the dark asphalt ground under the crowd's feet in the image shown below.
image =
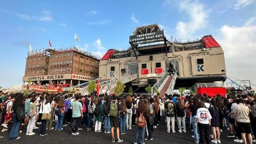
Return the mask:
[[(53, 126), (55, 123), (53, 123)], [(111, 133), (104, 133), (104, 128), (102, 125), (102, 132), (94, 132), (94, 127), (92, 130), (87, 131), (85, 129), (79, 130), (79, 135), (71, 135), (71, 129), (69, 126), (63, 127), (61, 131), (47, 130), (48, 135), (40, 136), (39, 129), (33, 130), (35, 135), (26, 135), (26, 129), (22, 126), (22, 131), (19, 133), (20, 139), (9, 140), (9, 132), (12, 128), (12, 123), (8, 125), (9, 130), (5, 132), (0, 132), (3, 138), (0, 138), (0, 144), (109, 144), (111, 142)], [(40, 125), (37, 125), (40, 127)], [(84, 127), (83, 127), (84, 128)], [(1, 127), (2, 130), (2, 127)], [(177, 124), (175, 125), (175, 133), (167, 133), (167, 127), (164, 121), (164, 116), (161, 117), (159, 126), (154, 129), (153, 140), (144, 140), (145, 144), (195, 144), (194, 138), (191, 137), (193, 132), (187, 128), (186, 133), (178, 132)], [(126, 130), (125, 135), (120, 135), (120, 138), (124, 141), (122, 144), (133, 144), (134, 136), (136, 133), (135, 127), (131, 130)], [(233, 139), (227, 138), (228, 130), (226, 128), (221, 132), (221, 144), (236, 144)], [(116, 137), (116, 136), (115, 136)]]

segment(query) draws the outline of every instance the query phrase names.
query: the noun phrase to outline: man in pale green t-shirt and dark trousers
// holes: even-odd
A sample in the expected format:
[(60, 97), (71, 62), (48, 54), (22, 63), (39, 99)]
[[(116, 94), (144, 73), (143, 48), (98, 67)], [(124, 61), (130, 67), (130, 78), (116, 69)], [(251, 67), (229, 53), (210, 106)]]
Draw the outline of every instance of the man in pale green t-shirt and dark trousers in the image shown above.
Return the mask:
[(76, 101), (73, 102), (71, 109), (72, 109), (72, 121), (70, 123), (72, 129), (72, 135), (79, 135), (78, 128), (83, 118), (83, 107), (82, 104), (79, 102), (80, 95), (75, 96)]

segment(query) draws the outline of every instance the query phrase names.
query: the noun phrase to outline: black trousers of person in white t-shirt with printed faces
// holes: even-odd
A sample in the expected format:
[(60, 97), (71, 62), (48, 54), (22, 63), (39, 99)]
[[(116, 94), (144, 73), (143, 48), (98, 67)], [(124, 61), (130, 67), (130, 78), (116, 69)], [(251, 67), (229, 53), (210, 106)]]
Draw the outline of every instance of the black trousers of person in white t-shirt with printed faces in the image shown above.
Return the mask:
[(200, 144), (210, 144), (209, 124), (198, 123), (200, 133)]

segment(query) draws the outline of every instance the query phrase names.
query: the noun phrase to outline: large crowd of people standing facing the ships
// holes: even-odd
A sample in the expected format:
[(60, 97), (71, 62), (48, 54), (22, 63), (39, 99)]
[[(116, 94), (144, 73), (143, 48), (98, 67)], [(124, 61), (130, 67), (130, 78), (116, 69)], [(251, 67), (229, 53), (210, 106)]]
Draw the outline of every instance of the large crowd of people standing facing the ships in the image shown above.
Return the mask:
[[(19, 139), (21, 127), (26, 127), (26, 135), (35, 135), (33, 130), (39, 129), (40, 135), (45, 136), (47, 130), (61, 131), (69, 125), (71, 135), (79, 135), (81, 129), (103, 131), (111, 133), (112, 142), (122, 142), (120, 134), (125, 135), (134, 127), (134, 144), (144, 144), (144, 140), (153, 140), (154, 130), (163, 115), (166, 132), (192, 130), (197, 144), (221, 143), (224, 128), (229, 130), (227, 137), (236, 137), (235, 142), (246, 144), (247, 136), (252, 144), (256, 142), (251, 135), (256, 133), (255, 104), (252, 94), (227, 95), (226, 98), (166, 94), (162, 98), (159, 94), (151, 97), (125, 93), (51, 95), (32, 92), (24, 95), (0, 92), (0, 123), (2, 132), (6, 132), (10, 128), (8, 124), (13, 122), (9, 139)], [(161, 110), (161, 106), (164, 109)]]

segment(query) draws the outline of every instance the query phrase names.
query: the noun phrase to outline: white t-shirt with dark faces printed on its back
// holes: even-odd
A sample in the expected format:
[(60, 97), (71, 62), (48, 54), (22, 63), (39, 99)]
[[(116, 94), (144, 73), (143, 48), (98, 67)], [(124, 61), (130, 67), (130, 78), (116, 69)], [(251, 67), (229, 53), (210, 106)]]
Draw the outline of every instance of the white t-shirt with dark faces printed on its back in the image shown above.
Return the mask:
[(200, 108), (196, 112), (196, 118), (200, 124), (209, 124), (209, 119), (212, 119), (212, 115), (206, 108)]

